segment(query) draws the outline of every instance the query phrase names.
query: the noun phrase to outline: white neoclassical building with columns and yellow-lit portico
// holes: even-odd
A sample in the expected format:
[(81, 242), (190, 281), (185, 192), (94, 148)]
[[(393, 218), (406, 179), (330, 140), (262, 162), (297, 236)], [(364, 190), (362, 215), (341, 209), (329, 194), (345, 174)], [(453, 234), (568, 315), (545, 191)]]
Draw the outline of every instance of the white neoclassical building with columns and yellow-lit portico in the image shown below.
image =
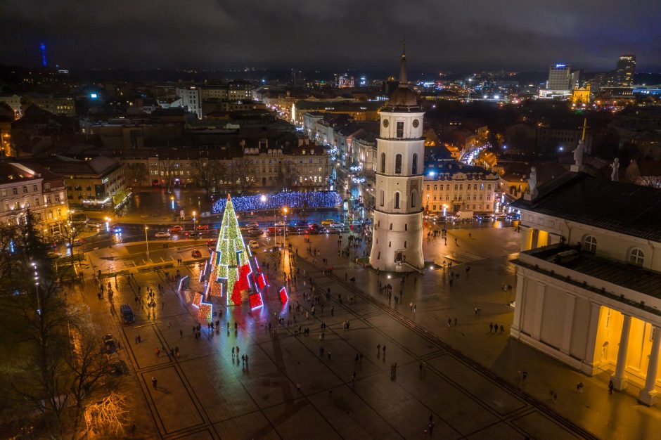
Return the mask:
[(511, 335), (586, 375), (659, 392), (661, 190), (584, 173), (514, 202), (521, 253)]

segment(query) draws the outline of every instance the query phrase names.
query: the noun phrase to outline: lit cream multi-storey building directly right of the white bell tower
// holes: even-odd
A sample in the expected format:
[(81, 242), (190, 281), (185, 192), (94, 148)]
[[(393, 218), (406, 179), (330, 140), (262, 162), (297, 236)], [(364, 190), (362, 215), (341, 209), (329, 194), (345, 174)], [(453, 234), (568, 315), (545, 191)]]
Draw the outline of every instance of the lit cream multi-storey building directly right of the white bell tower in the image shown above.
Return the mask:
[(495, 172), (456, 160), (439, 162), (428, 169), (433, 171), (425, 175), (423, 182), (426, 212), (494, 212), (499, 192), (499, 176)]

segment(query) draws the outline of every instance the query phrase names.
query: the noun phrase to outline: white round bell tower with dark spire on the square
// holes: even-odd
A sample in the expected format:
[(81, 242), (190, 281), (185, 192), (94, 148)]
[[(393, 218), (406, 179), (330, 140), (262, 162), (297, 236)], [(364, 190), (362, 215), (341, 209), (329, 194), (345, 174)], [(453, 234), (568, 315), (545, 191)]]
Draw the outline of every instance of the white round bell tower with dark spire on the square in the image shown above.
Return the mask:
[(411, 272), (424, 266), (424, 115), (406, 79), (406, 55), (402, 54), (399, 86), (380, 110), (377, 139), (376, 207), (369, 261), (381, 271)]

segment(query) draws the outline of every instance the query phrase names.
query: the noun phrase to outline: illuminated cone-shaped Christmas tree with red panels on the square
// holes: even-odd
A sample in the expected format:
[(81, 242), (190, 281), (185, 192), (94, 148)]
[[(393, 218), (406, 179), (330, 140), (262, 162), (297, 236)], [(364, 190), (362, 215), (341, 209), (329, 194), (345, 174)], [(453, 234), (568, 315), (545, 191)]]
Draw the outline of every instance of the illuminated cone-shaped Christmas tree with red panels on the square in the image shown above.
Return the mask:
[(207, 298), (226, 296), (228, 306), (241, 304), (241, 292), (250, 289), (249, 277), (252, 273), (250, 257), (252, 254), (243, 242), (236, 212), (228, 194), (218, 243), (216, 250), (211, 254)]

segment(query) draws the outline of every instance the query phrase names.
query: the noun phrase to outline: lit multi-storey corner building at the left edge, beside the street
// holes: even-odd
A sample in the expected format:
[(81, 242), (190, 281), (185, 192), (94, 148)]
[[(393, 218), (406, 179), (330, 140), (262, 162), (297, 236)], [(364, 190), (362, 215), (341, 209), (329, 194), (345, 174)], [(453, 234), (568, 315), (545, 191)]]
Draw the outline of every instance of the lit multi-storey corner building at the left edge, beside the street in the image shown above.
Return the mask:
[(44, 236), (60, 235), (69, 214), (63, 178), (38, 165), (0, 162), (0, 221), (20, 222), (28, 209)]

